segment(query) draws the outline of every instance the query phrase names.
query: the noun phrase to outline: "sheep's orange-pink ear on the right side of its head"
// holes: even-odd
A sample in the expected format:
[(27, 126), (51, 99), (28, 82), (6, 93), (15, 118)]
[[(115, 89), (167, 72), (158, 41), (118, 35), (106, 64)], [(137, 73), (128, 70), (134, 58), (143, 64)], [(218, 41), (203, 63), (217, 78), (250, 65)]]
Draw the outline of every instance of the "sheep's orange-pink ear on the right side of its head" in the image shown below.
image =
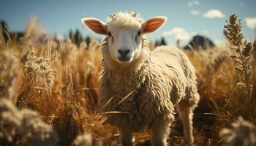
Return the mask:
[(165, 24), (166, 20), (167, 18), (163, 16), (149, 18), (141, 26), (143, 33), (147, 34), (147, 33), (157, 31), (157, 29), (161, 28)]

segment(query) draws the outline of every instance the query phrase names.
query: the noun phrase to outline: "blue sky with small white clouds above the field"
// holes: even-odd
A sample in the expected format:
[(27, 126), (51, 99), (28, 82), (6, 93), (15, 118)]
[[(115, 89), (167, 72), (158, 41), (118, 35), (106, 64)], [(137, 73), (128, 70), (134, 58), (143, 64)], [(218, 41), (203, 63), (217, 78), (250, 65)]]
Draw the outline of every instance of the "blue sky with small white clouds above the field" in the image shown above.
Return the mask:
[(170, 45), (175, 45), (177, 38), (185, 44), (193, 35), (205, 34), (219, 43), (224, 42), (222, 29), (232, 13), (237, 13), (242, 20), (246, 38), (252, 40), (255, 37), (255, 6), (255, 0), (0, 0), (0, 20), (6, 20), (12, 31), (23, 31), (33, 15), (50, 34), (67, 37), (70, 29), (78, 28), (86, 36), (91, 32), (83, 28), (80, 18), (105, 20), (116, 11), (135, 11), (144, 19), (156, 15), (168, 18), (159, 31), (148, 34), (148, 39), (159, 39), (164, 35)]

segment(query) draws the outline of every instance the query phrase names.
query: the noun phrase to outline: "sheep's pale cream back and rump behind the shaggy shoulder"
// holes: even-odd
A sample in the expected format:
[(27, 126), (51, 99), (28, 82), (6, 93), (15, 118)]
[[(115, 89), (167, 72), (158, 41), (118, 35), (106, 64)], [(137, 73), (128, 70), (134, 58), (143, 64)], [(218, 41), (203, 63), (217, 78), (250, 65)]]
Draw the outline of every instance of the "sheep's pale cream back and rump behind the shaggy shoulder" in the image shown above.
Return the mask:
[[(166, 66), (166, 72), (172, 78), (172, 88), (177, 88), (171, 95), (173, 104), (177, 104), (181, 98), (187, 104), (196, 105), (199, 101), (197, 93), (197, 77), (187, 55), (176, 47), (157, 47), (151, 54), (151, 61), (159, 66)], [(178, 76), (177, 76), (178, 74)], [(180, 84), (178, 83), (180, 82)], [(177, 95), (177, 93), (181, 93)]]

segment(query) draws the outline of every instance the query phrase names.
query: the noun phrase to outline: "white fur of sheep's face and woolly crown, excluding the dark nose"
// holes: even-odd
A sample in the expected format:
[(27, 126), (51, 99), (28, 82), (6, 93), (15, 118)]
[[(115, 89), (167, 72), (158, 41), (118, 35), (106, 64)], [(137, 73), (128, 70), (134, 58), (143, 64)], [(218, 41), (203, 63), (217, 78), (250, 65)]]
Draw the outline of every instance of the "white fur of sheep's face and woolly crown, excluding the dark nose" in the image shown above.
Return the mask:
[[(140, 55), (141, 50), (141, 38), (137, 37), (137, 42), (135, 41), (138, 31), (140, 31), (141, 23), (134, 20), (132, 16), (127, 13), (119, 13), (111, 21), (108, 21), (108, 31), (112, 35), (108, 39), (108, 45), (110, 48), (110, 56), (114, 61), (119, 64), (129, 64), (133, 60), (136, 60)], [(114, 39), (114, 40), (113, 40)], [(129, 55), (132, 58), (129, 61), (119, 61), (118, 49), (128, 48), (130, 50)]]

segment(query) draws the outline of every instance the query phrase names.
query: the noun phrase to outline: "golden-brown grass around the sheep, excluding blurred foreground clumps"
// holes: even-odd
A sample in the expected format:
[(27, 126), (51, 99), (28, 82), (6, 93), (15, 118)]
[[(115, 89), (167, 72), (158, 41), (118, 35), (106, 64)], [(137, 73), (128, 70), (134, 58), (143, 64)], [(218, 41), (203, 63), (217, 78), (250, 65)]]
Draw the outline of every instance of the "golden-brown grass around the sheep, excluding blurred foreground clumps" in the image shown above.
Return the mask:
[[(239, 30), (231, 31), (239, 33)], [(91, 134), (86, 137), (93, 137), (94, 143), (102, 142), (102, 145), (118, 143), (116, 128), (104, 125), (105, 119), (102, 118), (102, 114), (118, 113), (99, 114), (97, 111), (101, 43), (97, 39), (91, 39), (89, 46), (82, 42), (80, 47), (70, 40), (57, 42), (49, 39), (38, 43), (40, 32), (35, 20), (31, 20), (20, 42), (4, 42), (0, 34), (0, 98), (10, 99), (18, 109), (36, 111), (42, 121), (53, 126), (59, 136), (59, 145), (72, 145), (78, 134)], [(231, 35), (228, 39), (233, 40)], [(239, 41), (242, 43), (244, 40)], [(240, 45), (241, 50), (245, 48), (242, 44), (230, 42), (233, 47)], [(238, 115), (256, 123), (256, 111), (252, 107), (256, 105), (255, 68), (251, 69), (249, 78), (245, 75), (240, 78), (236, 71), (238, 63), (230, 58), (234, 55), (230, 44), (212, 50), (185, 51), (197, 70), (201, 97), (195, 110), (195, 145), (220, 145), (219, 131), (230, 126)], [(252, 47), (254, 52), (251, 50), (253, 64), (246, 60), (244, 67), (246, 64), (255, 66), (255, 46), (254, 50)], [(248, 51), (243, 53), (248, 55)], [(245, 84), (245, 88), (238, 82)], [(170, 144), (184, 145), (181, 121), (176, 120), (172, 129)], [(150, 132), (146, 129), (135, 137), (138, 145), (147, 145)], [(13, 138), (19, 139), (17, 135)], [(86, 140), (83, 136), (78, 139)], [(75, 144), (80, 145), (78, 139)], [(6, 139), (0, 131), (0, 145), (17, 145), (15, 142)]]

